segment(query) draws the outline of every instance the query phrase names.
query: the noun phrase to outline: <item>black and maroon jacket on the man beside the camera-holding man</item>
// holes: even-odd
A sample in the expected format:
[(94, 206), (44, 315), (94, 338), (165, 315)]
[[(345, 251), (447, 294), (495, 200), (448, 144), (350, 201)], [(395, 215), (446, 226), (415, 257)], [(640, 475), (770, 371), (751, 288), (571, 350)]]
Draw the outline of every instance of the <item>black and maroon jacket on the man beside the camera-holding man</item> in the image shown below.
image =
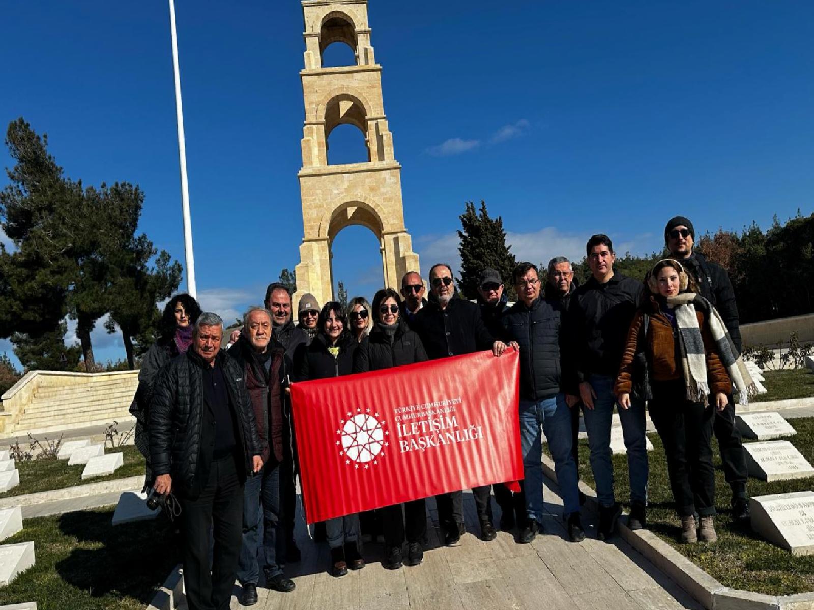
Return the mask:
[(252, 343), (243, 335), (234, 342), (227, 357), (233, 359), (245, 373), (246, 389), (252, 399), (257, 436), (265, 445), (262, 454), (265, 464), (274, 455), (276, 462), (282, 462), (285, 455), (285, 430), (288, 427), (286, 410), (283, 408), (283, 381), (291, 370), (291, 359), (286, 354), (282, 343), (274, 337), (269, 346), (269, 371), (255, 355)]

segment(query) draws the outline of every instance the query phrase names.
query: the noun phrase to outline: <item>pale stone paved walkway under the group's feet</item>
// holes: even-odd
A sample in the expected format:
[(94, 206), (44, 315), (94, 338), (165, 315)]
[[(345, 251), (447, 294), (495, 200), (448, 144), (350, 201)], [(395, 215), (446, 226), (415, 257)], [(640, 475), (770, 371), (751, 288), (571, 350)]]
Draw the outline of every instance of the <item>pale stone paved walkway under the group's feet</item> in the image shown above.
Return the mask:
[[(380, 544), (365, 545), (365, 569), (342, 578), (330, 577), (329, 551), (316, 545), (302, 528), (300, 564), (287, 575), (296, 582), (288, 594), (258, 588), (258, 610), (678, 610), (701, 608), (648, 560), (625, 542), (599, 542), (596, 518), (584, 511), (588, 537), (567, 542), (558, 515), (562, 502), (552, 481), (545, 481), (545, 534), (532, 544), (514, 542), (499, 532), (494, 542), (481, 542), (470, 527), (457, 547), (442, 547), (431, 520), (424, 563), (390, 571), (383, 568)], [(430, 502), (434, 517), (434, 503)], [(475, 523), (475, 503), (465, 495), (467, 523)], [(499, 518), (497, 509), (496, 519)], [(239, 595), (239, 586), (235, 586)], [(179, 608), (186, 608), (185, 604)], [(231, 608), (243, 608), (232, 599)]]

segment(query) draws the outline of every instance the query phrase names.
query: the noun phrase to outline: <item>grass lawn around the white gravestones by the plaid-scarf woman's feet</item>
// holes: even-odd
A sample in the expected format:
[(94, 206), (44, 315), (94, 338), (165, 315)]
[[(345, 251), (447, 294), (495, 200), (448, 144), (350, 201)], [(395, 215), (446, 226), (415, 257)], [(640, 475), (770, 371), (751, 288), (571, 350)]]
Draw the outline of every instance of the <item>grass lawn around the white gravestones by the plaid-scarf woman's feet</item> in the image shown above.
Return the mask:
[[(767, 376), (768, 380), (768, 376)], [(789, 440), (809, 462), (814, 462), (814, 418), (790, 420), (797, 435)], [(713, 438), (716, 458), (716, 531), (718, 542), (714, 544), (689, 544), (678, 542), (681, 538), (681, 521), (673, 510), (672, 492), (667, 478), (667, 460), (658, 434), (649, 434), (654, 451), (650, 451), (650, 491), (647, 510), (648, 529), (675, 547), (681, 554), (693, 560), (712, 577), (725, 586), (746, 589), (768, 595), (790, 595), (814, 591), (814, 556), (796, 557), (789, 551), (775, 547), (746, 527), (742, 529), (731, 519), (729, 500), (731, 492), (724, 481), (720, 465), (720, 453)], [(628, 463), (624, 455), (614, 455), (616, 498), (628, 507), (630, 481)], [(594, 487), (593, 473), (589, 464), (587, 441), (580, 441), (580, 476)], [(780, 494), (789, 491), (810, 490), (814, 478), (797, 481), (764, 483), (750, 479), (750, 495)]]

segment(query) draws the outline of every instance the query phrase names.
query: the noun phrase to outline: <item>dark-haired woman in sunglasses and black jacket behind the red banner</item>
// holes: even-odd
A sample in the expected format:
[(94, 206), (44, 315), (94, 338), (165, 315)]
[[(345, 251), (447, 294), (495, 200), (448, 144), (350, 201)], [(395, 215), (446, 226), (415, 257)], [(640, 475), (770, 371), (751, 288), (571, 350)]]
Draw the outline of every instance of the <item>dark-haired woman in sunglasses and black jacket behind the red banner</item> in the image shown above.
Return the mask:
[[(383, 288), (373, 298), (376, 324), (365, 338), (353, 362), (354, 373), (378, 371), (403, 364), (425, 362), (421, 339), (407, 328), (399, 316), (400, 298), (396, 290)], [(404, 512), (402, 514), (402, 506)], [(401, 547), (407, 539), (407, 564), (418, 565), (424, 560), (421, 542), (427, 534), (427, 507), (425, 499), (394, 504), (379, 509), (384, 530), (387, 560), (384, 567), (399, 569), (402, 562)]]

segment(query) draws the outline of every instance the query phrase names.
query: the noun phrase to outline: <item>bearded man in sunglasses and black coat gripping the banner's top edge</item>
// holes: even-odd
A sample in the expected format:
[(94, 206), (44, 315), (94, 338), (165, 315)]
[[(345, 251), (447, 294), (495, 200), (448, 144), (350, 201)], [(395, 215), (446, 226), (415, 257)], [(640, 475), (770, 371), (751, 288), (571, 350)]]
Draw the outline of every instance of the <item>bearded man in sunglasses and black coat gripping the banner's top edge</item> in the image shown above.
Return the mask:
[[(497, 356), (506, 347), (486, 329), (478, 306), (458, 298), (452, 269), (444, 263), (430, 269), (430, 298), (415, 316), (413, 329), (431, 360), (488, 349)], [(494, 540), (497, 532), (492, 525), (491, 486), (475, 487), (472, 495), (480, 522), (480, 537), (484, 541)], [(446, 530), (444, 544), (457, 544), (466, 531), (463, 492), (436, 495), (435, 504), (439, 524)]]

